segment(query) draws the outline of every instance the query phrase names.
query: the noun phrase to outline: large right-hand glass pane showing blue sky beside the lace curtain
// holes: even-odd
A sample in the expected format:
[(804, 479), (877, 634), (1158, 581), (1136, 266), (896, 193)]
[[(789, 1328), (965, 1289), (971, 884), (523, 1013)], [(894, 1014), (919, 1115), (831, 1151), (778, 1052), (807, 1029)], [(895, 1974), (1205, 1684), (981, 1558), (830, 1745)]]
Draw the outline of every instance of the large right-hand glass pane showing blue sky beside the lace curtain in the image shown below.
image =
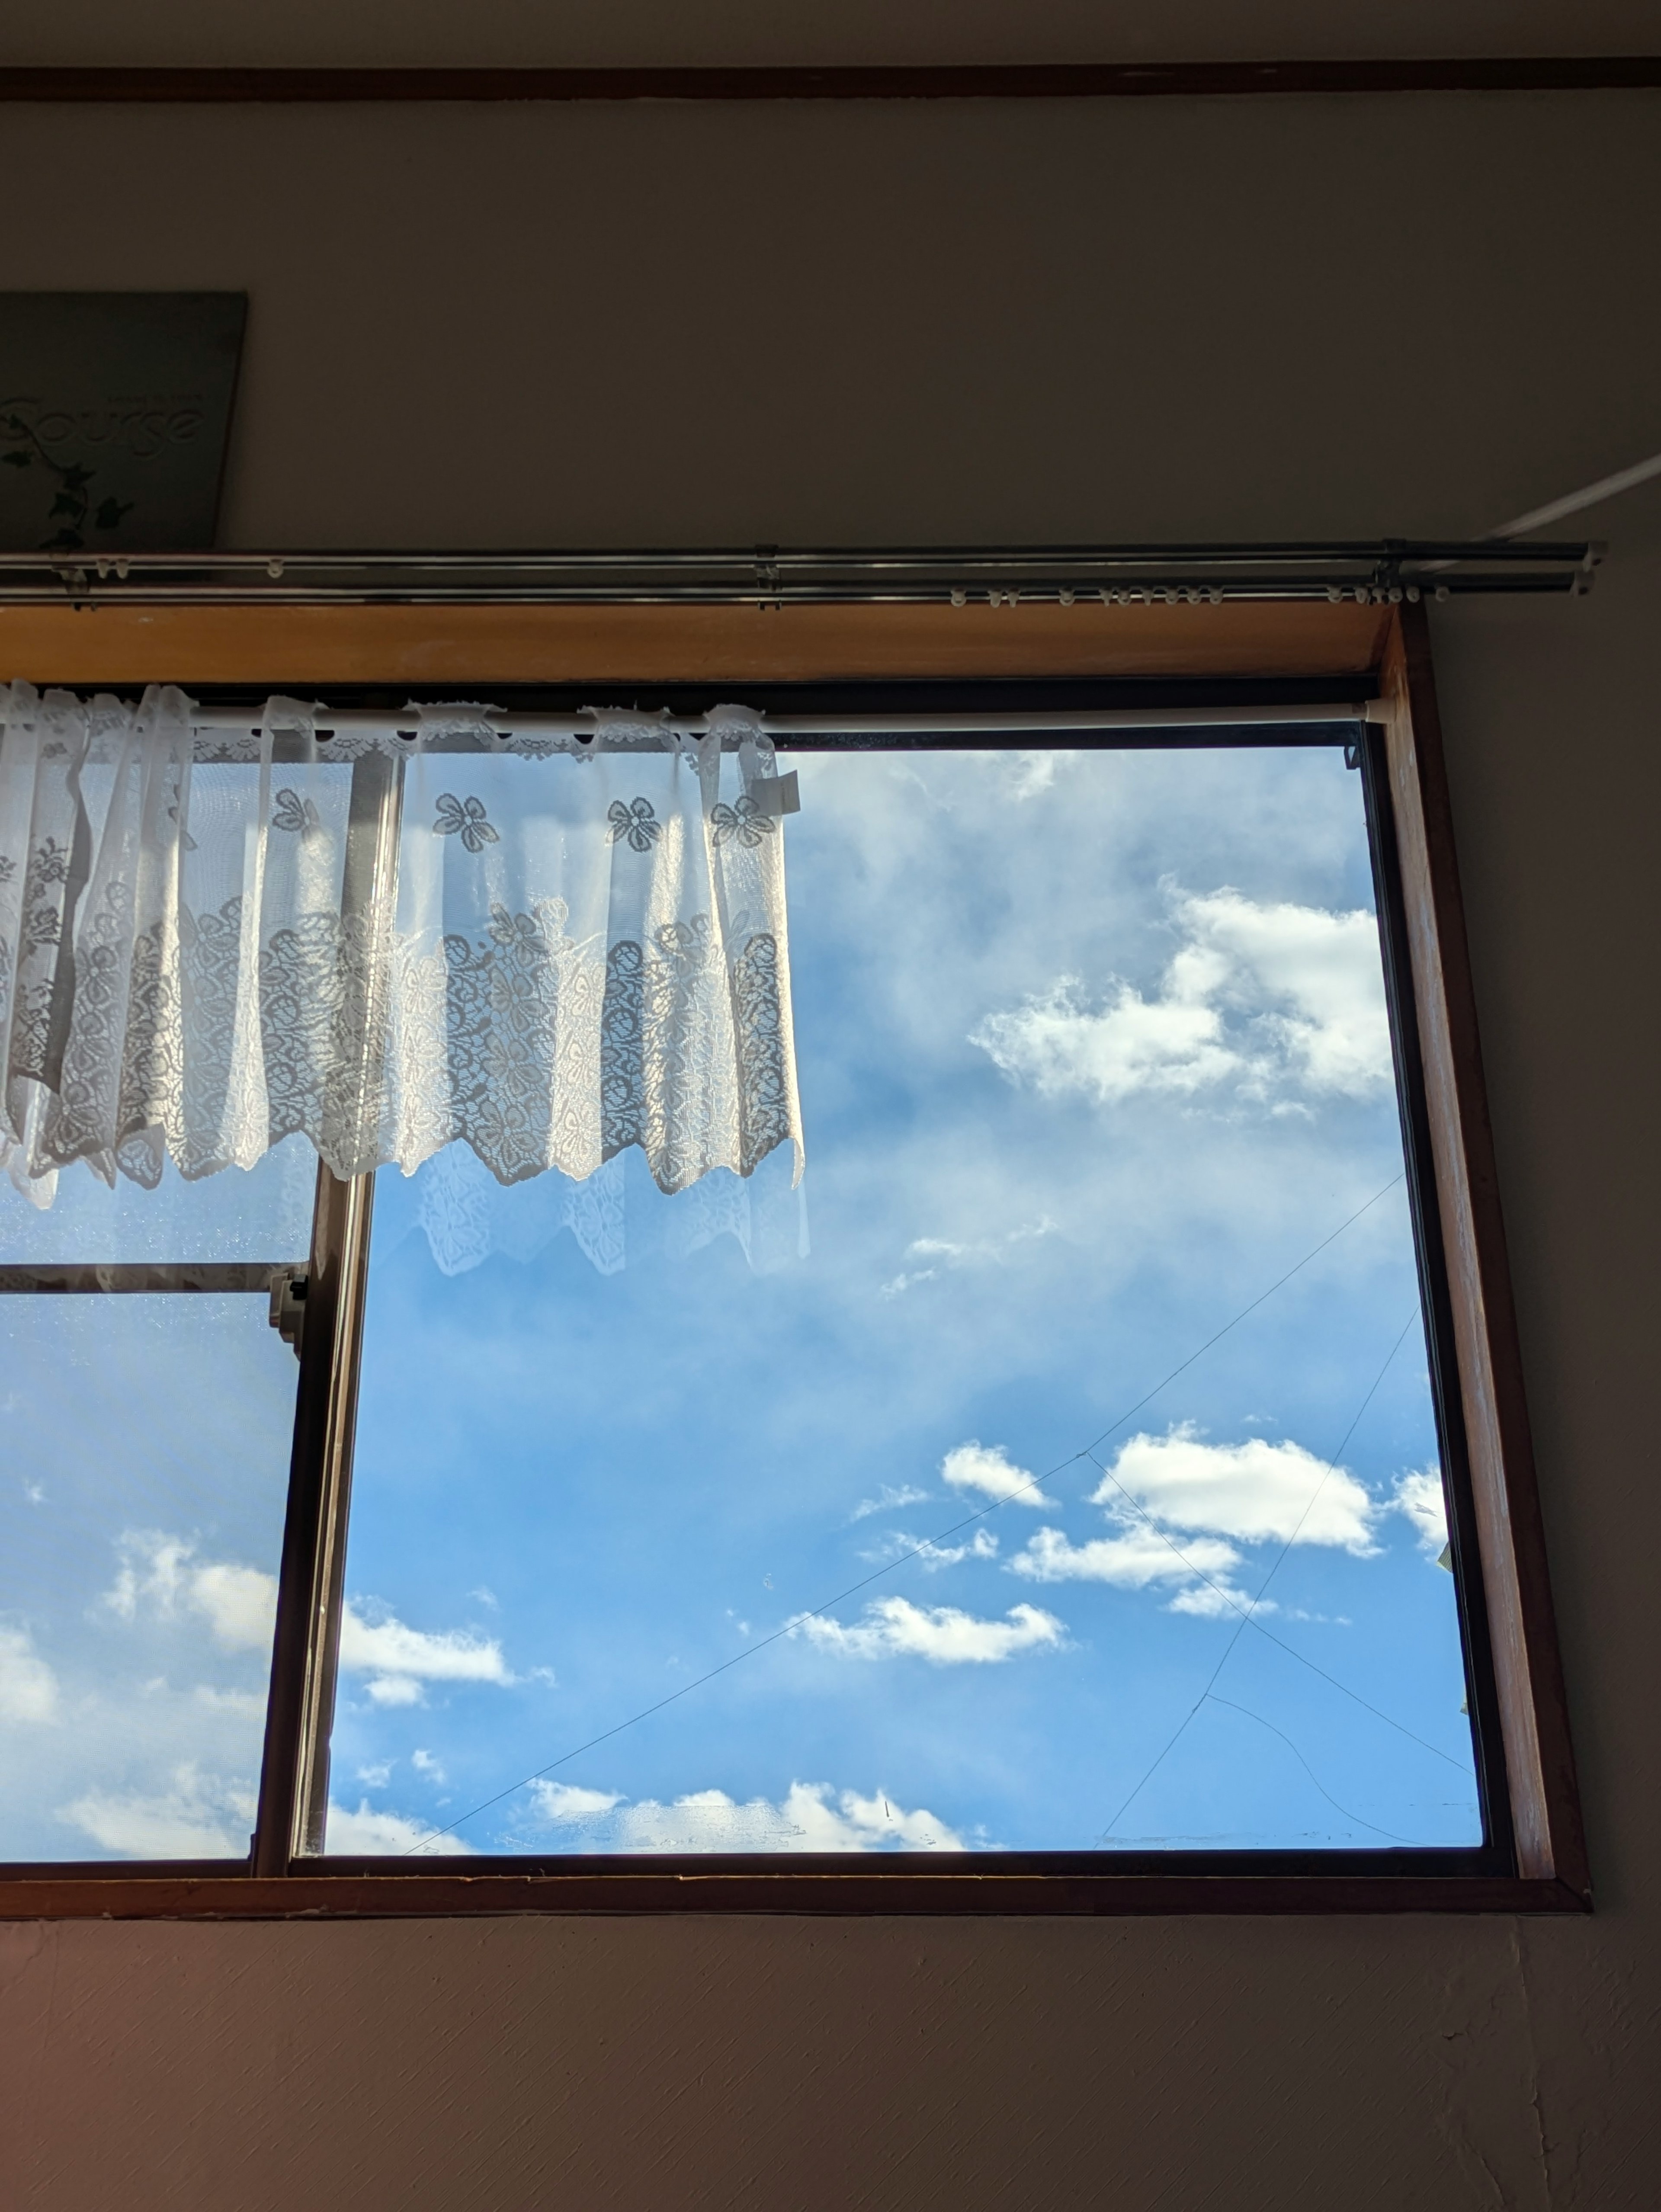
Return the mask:
[(798, 768), (809, 1256), (383, 1170), (327, 1847), (1480, 1843), (1360, 776)]

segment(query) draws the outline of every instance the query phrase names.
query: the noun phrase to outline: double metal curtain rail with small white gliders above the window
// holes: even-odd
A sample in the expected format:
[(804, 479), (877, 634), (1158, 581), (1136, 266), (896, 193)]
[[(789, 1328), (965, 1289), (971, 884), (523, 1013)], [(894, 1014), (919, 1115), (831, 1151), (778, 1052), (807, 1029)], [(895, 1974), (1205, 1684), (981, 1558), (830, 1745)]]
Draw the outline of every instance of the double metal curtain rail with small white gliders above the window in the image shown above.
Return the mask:
[(0, 553), (0, 604), (1382, 604), (1581, 593), (1601, 544), (659, 549), (573, 553)]

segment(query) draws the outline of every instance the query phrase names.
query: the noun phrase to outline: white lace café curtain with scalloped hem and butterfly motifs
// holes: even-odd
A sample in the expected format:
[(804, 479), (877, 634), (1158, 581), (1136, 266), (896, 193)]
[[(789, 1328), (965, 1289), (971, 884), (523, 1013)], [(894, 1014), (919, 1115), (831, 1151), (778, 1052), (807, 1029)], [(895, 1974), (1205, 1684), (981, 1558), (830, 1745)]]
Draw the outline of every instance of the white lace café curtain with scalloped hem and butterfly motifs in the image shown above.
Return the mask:
[[(761, 717), (414, 739), (272, 699), (201, 732), (0, 686), (0, 1150), (153, 1186), (303, 1133), (341, 1177), (445, 1146), (495, 1183), (639, 1146), (664, 1192), (801, 1175), (783, 836)], [(456, 750), (471, 745), (471, 750)]]

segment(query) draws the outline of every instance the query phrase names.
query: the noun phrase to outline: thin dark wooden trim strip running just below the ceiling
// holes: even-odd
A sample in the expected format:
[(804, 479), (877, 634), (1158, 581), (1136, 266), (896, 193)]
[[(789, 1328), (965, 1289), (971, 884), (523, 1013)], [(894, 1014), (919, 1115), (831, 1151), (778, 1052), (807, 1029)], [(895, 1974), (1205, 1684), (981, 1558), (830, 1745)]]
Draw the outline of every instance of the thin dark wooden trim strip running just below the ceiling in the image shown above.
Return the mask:
[(898, 62), (776, 69), (0, 69), (31, 102), (1239, 100), (1263, 93), (1606, 93), (1661, 86), (1661, 55), (1407, 62)]

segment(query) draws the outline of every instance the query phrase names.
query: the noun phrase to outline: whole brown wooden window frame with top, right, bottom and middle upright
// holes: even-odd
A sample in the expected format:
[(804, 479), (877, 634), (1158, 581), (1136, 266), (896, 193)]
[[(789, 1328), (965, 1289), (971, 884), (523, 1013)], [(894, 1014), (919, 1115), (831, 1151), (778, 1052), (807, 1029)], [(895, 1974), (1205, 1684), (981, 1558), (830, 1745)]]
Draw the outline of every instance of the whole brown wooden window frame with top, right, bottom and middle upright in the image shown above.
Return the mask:
[[(445, 1913), (1376, 1913), (1586, 1911), (1590, 1878), (1546, 1571), (1528, 1409), (1453, 849), (1429, 626), (1418, 604), (1225, 606), (166, 606), (0, 608), (0, 677), (358, 686), (805, 686), (1088, 679), (1170, 703), (1367, 699), (1373, 863), (1393, 883), (1385, 960), (1404, 1073), (1420, 1261), (1451, 1345), (1464, 1473), (1453, 1542), (1475, 1542), (1477, 1725), (1491, 1708), (1504, 1805), (1475, 1854), (1000, 1854), (942, 1871), (885, 1858), (318, 1863), (307, 1743), (332, 1705), (314, 1635), (341, 1601), (369, 1179), (321, 1175), (283, 1537), (268, 1759), (243, 1863), (0, 1869), (0, 1918), (405, 1918)], [(1135, 695), (1135, 699), (1132, 699)], [(1380, 843), (1382, 841), (1382, 843)], [(1458, 1440), (1455, 1440), (1458, 1442)], [(1464, 1522), (1464, 1526), (1462, 1526)], [(1471, 1624), (1466, 1624), (1469, 1628)], [(1250, 1858), (1254, 1867), (1241, 1867)], [(1449, 1863), (1438, 1871), (1435, 1860)], [(1340, 1865), (1334, 1865), (1340, 1860)], [(1431, 1863), (1427, 1871), (1427, 1860)], [(1497, 1865), (1495, 1871), (1495, 1863)], [(1462, 1871), (1453, 1871), (1453, 1863)], [(1331, 1867), (1331, 1871), (1323, 1871)]]

